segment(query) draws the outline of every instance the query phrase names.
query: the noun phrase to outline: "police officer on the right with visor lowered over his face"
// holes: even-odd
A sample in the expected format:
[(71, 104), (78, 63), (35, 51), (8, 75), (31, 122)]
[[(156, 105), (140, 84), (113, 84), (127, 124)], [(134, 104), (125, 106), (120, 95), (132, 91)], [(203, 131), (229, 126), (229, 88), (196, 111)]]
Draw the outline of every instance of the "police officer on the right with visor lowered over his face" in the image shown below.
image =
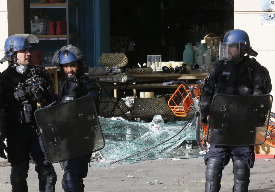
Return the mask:
[[(231, 30), (225, 34), (220, 42), (219, 59), (214, 62), (202, 88), (203, 123), (209, 119), (212, 98), (216, 94), (249, 96), (270, 93), (272, 86), (268, 70), (249, 55), (256, 57), (258, 53), (251, 49), (245, 31)], [(249, 169), (255, 160), (254, 146), (210, 145), (205, 155), (205, 192), (220, 190), (222, 170), (230, 158), (234, 167), (233, 191), (248, 191)]]

